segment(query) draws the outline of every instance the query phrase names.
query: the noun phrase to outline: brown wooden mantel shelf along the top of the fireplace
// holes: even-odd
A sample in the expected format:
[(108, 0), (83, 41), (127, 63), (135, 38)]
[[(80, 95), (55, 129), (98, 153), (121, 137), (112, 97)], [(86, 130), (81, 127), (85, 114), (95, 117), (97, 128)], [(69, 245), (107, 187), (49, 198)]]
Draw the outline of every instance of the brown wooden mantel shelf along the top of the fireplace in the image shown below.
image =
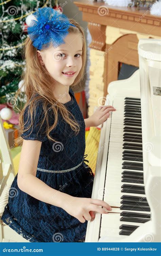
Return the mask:
[[(140, 10), (136, 11), (135, 7), (111, 6), (103, 1), (74, 1), (74, 4), (82, 11), (82, 19), (87, 22), (161, 36), (161, 16), (151, 15), (145, 7), (140, 7)], [(102, 15), (104, 13), (103, 9), (101, 13), (100, 6), (105, 8), (105, 12), (107, 10), (106, 15)]]

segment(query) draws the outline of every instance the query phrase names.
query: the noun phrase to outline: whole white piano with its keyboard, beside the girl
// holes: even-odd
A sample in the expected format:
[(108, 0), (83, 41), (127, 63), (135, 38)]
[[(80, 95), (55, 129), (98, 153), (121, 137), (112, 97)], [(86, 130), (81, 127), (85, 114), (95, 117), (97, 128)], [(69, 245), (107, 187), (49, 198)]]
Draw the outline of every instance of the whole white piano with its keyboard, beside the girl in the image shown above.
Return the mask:
[(161, 40), (140, 39), (139, 70), (111, 82), (116, 111), (101, 129), (92, 198), (112, 211), (88, 221), (85, 242), (160, 242)]

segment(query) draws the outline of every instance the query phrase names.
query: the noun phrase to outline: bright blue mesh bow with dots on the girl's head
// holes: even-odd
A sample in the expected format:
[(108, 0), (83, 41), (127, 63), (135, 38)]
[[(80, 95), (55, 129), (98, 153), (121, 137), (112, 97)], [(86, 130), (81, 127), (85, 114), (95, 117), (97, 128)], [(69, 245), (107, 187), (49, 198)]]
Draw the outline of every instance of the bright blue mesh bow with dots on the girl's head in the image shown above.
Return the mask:
[(28, 34), (33, 41), (33, 46), (41, 50), (49, 47), (52, 42), (54, 48), (64, 44), (70, 24), (66, 15), (60, 14), (50, 7), (38, 8), (33, 15), (37, 20), (32, 19), (28, 27)]

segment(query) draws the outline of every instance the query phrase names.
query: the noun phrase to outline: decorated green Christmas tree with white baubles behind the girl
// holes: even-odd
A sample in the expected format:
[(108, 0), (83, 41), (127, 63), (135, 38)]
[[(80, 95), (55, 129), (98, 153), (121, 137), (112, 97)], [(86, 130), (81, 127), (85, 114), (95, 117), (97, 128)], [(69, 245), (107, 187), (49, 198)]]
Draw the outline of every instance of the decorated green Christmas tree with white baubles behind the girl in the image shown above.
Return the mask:
[[(32, 14), (42, 7), (51, 7), (59, 12), (62, 8), (57, 1), (12, 1), (0, 3), (0, 103), (13, 108), (26, 102), (23, 90), (16, 99), (15, 93), (21, 86), (22, 72), (25, 72), (25, 60), (22, 59), (22, 47), (28, 37)], [(18, 101), (18, 102), (17, 102)]]

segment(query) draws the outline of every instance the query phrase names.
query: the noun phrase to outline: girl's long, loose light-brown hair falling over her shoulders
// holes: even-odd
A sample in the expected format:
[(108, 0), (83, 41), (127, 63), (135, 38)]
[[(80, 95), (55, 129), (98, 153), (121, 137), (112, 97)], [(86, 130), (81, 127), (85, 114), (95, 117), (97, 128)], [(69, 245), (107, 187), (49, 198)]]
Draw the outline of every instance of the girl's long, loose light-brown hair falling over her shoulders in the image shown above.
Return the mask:
[[(75, 78), (74, 83), (71, 85), (73, 88), (75, 85), (79, 86), (81, 82), (83, 82), (84, 77), (84, 71), (86, 66), (86, 40), (85, 40), (85, 34), (82, 29), (82, 27), (74, 20), (69, 19), (69, 22), (75, 27), (70, 26), (68, 29), (69, 33), (80, 33), (82, 36), (82, 42), (83, 42), (83, 52), (82, 52), (82, 68)], [(41, 123), (40, 128), (42, 127), (44, 121), (46, 120), (47, 123), (47, 129), (46, 129), (46, 136), (49, 140), (56, 142), (51, 136), (50, 132), (56, 127), (58, 122), (58, 111), (64, 118), (64, 120), (70, 125), (71, 129), (76, 132), (76, 134), (79, 132), (80, 128), (78, 123), (76, 122), (74, 116), (69, 112), (66, 108), (66, 106), (62, 103), (60, 103), (58, 100), (56, 100), (55, 96), (51, 92), (51, 85), (54, 83), (53, 77), (49, 74), (49, 72), (46, 70), (45, 66), (41, 65), (38, 57), (37, 57), (37, 48), (33, 46), (33, 42), (29, 37), (25, 39), (24, 42), (24, 48), (22, 49), (22, 57), (24, 56), (26, 60), (26, 70), (22, 73), (21, 80), (23, 80), (23, 83), (21, 87), (18, 89), (15, 97), (18, 97), (20, 95), (21, 89), (24, 86), (24, 92), (26, 94), (26, 104), (19, 115), (19, 136), (22, 134), (22, 131), (27, 131), (30, 129), (33, 125), (32, 116), (33, 113), (36, 113), (35, 111), (35, 102), (42, 100), (43, 102), (43, 111), (44, 111), (44, 119)], [(35, 96), (37, 94), (37, 96)], [(32, 97), (34, 96), (34, 97)], [(51, 108), (53, 111), (55, 122), (52, 126), (49, 126), (48, 122), (48, 109), (49, 104), (51, 106), (54, 106), (54, 108)], [(29, 106), (28, 111), (28, 119), (29, 119), (29, 112), (31, 116), (31, 125), (30, 127), (27, 127), (23, 130), (24, 122), (23, 122), (23, 114), (26, 109), (26, 107)], [(50, 111), (51, 114), (51, 111)], [(71, 119), (70, 116), (74, 119)], [(26, 123), (28, 120), (26, 121)], [(19, 137), (20, 138), (20, 137)], [(22, 142), (20, 143), (22, 145)]]

